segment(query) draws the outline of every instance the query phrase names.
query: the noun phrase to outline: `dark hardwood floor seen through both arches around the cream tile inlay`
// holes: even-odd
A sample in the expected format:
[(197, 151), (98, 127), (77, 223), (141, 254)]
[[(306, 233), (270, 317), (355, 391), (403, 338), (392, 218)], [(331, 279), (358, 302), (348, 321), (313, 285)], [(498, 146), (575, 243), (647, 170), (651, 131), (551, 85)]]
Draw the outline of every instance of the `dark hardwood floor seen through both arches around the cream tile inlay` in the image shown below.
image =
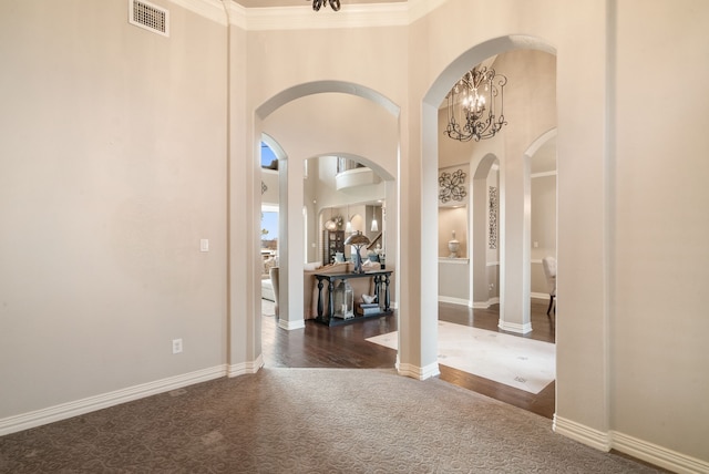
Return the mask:
[[(525, 337), (554, 342), (554, 328), (552, 320), (546, 316), (546, 301), (532, 300), (532, 328), (534, 330)], [(278, 328), (276, 318), (264, 316), (261, 320), (264, 363), (266, 367), (291, 368), (393, 368), (397, 351), (368, 342), (366, 339), (395, 331), (398, 329), (397, 318), (398, 315), (394, 312), (390, 317), (358, 321), (335, 328), (308, 320), (304, 330), (286, 331)], [(489, 309), (473, 310), (460, 305), (439, 303), (439, 319), (503, 332), (497, 329), (497, 305)], [(441, 380), (542, 416), (551, 419), (554, 414), (554, 382), (538, 394), (533, 394), (442, 364), (439, 367)]]

